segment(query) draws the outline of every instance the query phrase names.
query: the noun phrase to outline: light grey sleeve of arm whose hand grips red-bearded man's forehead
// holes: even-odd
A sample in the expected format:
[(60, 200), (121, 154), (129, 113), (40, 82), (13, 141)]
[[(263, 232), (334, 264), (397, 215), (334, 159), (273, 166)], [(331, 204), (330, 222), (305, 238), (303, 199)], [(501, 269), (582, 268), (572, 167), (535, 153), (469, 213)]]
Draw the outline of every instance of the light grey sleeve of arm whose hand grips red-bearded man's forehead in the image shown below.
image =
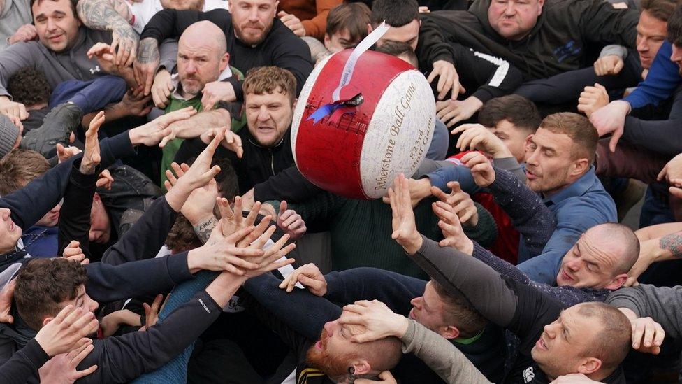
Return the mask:
[(450, 341), (415, 320), (400, 341), (403, 353), (414, 353), (447, 383), (491, 383)]

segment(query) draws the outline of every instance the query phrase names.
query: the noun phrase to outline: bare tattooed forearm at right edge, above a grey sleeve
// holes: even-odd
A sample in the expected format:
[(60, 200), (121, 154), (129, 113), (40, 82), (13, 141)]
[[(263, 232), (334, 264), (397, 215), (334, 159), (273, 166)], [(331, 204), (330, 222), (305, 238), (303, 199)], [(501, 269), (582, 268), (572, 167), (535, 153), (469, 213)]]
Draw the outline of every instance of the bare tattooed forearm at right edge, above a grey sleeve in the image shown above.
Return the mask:
[(639, 243), (639, 259), (627, 273), (626, 286), (637, 283), (641, 273), (654, 262), (676, 260), (682, 258), (682, 232), (675, 232), (657, 239), (648, 239)]

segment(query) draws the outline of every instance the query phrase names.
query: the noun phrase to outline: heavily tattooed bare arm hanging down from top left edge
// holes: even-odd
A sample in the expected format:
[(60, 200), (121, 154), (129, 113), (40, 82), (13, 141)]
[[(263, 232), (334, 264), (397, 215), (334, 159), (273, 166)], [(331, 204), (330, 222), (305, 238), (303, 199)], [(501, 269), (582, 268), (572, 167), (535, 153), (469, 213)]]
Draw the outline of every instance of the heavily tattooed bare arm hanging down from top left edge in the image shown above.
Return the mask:
[(116, 64), (132, 65), (140, 36), (130, 24), (133, 15), (124, 0), (80, 0), (76, 8), (86, 27), (112, 32)]

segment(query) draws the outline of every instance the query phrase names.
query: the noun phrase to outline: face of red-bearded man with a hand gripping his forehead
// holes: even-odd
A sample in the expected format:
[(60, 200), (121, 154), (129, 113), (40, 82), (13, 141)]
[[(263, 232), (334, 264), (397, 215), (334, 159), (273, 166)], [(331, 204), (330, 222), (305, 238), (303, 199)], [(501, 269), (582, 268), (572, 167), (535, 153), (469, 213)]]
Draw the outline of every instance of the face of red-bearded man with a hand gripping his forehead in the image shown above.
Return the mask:
[(307, 351), (306, 361), (331, 376), (344, 374), (352, 362), (349, 359), (357, 351), (352, 336), (365, 332), (361, 325), (342, 325), (340, 320), (327, 322), (317, 343)]

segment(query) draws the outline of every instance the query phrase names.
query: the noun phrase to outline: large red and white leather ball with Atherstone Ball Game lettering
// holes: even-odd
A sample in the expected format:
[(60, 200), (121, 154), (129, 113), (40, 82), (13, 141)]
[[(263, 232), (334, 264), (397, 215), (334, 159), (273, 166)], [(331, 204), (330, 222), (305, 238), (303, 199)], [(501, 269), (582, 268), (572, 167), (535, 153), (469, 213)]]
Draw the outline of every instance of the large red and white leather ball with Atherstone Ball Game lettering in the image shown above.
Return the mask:
[(426, 78), (401, 59), (364, 52), (340, 99), (361, 93), (363, 103), (340, 119), (309, 119), (332, 94), (352, 50), (327, 57), (308, 77), (291, 125), (296, 166), (311, 183), (352, 199), (383, 197), (399, 173), (414, 174), (435, 124)]

